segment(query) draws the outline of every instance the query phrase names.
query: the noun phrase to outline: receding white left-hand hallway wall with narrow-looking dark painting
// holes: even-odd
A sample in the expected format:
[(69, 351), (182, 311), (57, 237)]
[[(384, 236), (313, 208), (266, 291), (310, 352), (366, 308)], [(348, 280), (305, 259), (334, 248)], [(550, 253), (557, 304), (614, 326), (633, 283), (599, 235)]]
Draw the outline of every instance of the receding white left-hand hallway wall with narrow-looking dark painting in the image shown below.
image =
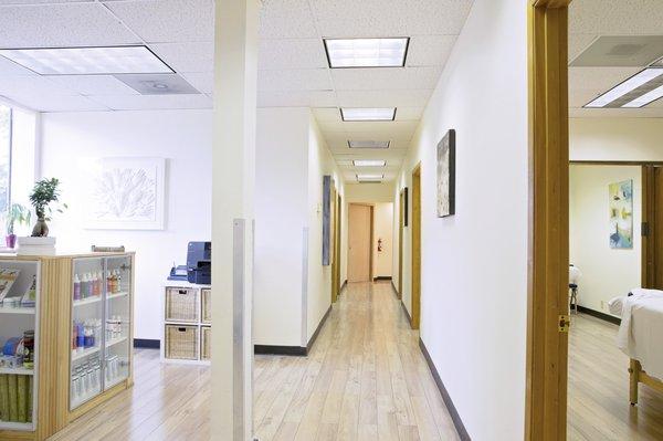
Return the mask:
[[(307, 326), (303, 346), (306, 346), (327, 309), (332, 305), (332, 265), (323, 265), (323, 176), (330, 175), (338, 192), (344, 186), (336, 161), (308, 111), (308, 287)], [(330, 250), (333, 243), (329, 244)]]

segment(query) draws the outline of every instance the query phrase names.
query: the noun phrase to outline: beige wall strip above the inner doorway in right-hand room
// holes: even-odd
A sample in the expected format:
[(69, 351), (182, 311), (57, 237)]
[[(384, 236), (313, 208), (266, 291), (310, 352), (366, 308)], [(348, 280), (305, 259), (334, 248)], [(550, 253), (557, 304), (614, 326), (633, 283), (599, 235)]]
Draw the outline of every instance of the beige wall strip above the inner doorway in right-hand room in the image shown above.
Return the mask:
[(571, 160), (663, 160), (663, 118), (571, 118)]

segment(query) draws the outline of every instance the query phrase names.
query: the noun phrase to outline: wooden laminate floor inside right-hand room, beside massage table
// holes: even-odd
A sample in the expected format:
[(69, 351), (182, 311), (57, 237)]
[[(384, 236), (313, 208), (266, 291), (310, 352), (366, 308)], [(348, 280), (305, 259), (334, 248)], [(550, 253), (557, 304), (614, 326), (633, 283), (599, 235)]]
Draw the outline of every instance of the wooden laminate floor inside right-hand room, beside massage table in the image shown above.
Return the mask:
[(617, 347), (618, 328), (589, 315), (572, 316), (569, 440), (663, 440), (663, 395), (640, 385), (640, 403), (629, 403), (629, 357)]

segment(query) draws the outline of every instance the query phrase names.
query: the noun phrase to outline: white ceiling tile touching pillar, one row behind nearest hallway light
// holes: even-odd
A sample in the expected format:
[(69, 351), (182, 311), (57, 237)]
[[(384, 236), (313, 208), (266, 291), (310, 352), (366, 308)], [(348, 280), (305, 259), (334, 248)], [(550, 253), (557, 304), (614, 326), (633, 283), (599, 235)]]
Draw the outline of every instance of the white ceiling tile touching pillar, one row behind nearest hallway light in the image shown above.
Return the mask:
[(259, 91), (332, 91), (326, 69), (259, 71)]

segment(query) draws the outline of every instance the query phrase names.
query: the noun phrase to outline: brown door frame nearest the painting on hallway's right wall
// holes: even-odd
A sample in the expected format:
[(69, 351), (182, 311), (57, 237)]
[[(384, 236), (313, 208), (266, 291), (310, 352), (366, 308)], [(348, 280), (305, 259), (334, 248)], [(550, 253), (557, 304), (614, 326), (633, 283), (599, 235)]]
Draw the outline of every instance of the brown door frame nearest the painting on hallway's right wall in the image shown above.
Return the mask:
[(421, 162), (412, 170), (412, 329), (421, 325)]

